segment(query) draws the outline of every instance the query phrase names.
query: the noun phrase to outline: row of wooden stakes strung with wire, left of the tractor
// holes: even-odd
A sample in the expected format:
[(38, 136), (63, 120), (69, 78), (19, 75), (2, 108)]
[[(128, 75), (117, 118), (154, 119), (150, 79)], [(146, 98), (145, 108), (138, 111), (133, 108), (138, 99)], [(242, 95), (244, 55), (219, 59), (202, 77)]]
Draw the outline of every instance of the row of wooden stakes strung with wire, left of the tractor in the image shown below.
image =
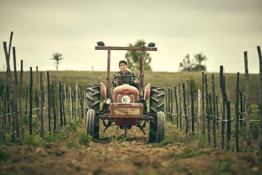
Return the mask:
[[(5, 85), (3, 89), (3, 95), (2, 95), (2, 101), (3, 101), (2, 115), (1, 115), (1, 100), (0, 100), (0, 117), (2, 116), (2, 126), (1, 126), (1, 131), (0, 131), (0, 145), (2, 144), (3, 132), (5, 131), (5, 128), (6, 128), (6, 116), (8, 116), (8, 122), (10, 122), (10, 125), (11, 125), (11, 133), (10, 133), (11, 142), (13, 142), (15, 139), (15, 132), (16, 132), (16, 136), (20, 137), (19, 121), (21, 125), (21, 135), (22, 135), (22, 138), (24, 138), (23, 117), (29, 117), (29, 133), (30, 134), (32, 134), (32, 118), (38, 117), (38, 136), (40, 136), (42, 139), (44, 137), (43, 118), (45, 118), (46, 134), (51, 134), (51, 117), (54, 118), (53, 132), (56, 134), (59, 132), (59, 126), (66, 127), (66, 122), (68, 124), (70, 120), (77, 121), (79, 118), (82, 119), (85, 117), (84, 115), (85, 114), (84, 87), (80, 85), (80, 88), (79, 88), (77, 83), (76, 83), (76, 86), (72, 88), (71, 88), (71, 85), (69, 85), (68, 92), (66, 95), (65, 84), (61, 85), (61, 81), (59, 81), (59, 103), (60, 105), (58, 107), (58, 100), (57, 100), (58, 88), (57, 88), (57, 83), (55, 80), (52, 80), (53, 115), (51, 115), (49, 71), (45, 72), (45, 85), (43, 85), (43, 73), (40, 73), (40, 79), (39, 79), (38, 67), (36, 67), (38, 99), (35, 99), (35, 90), (33, 88), (33, 72), (32, 72), (32, 67), (30, 67), (30, 86), (28, 88), (28, 85), (27, 85), (27, 88), (26, 88), (26, 104), (25, 104), (25, 110), (24, 110), (22, 106), (23, 60), (21, 60), (21, 69), (20, 69), (21, 71), (20, 71), (19, 108), (18, 108), (18, 104), (17, 104), (18, 80), (17, 80), (17, 70), (16, 70), (15, 47), (13, 47), (15, 83), (13, 83), (12, 78), (11, 78), (11, 71), (10, 71), (10, 64), (9, 64), (12, 37), (13, 37), (13, 32), (11, 32), (11, 36), (10, 36), (9, 50), (7, 50), (6, 42), (3, 42), (5, 56), (6, 56), (6, 63), (7, 63), (7, 71), (6, 71)], [(75, 93), (74, 93), (74, 89), (75, 89)], [(28, 93), (28, 90), (29, 90), (29, 93)], [(29, 104), (28, 104), (28, 99), (29, 99)], [(35, 101), (37, 103), (36, 108), (35, 108)], [(65, 106), (64, 106), (64, 101), (65, 101)], [(6, 112), (6, 107), (7, 107), (7, 112)], [(58, 110), (60, 110), (60, 114), (58, 113)], [(18, 117), (18, 113), (20, 114), (20, 120)], [(58, 123), (59, 115), (60, 115), (60, 125)], [(47, 124), (47, 118), (48, 118), (48, 124)]]

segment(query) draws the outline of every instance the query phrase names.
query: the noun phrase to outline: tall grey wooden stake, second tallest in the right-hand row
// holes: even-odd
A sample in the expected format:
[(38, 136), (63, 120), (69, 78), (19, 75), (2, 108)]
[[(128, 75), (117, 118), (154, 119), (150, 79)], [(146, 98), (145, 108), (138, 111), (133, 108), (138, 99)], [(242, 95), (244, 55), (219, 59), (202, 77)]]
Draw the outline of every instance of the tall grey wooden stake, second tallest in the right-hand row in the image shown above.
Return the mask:
[(249, 75), (247, 67), (247, 51), (244, 52), (245, 60), (245, 81), (247, 91), (247, 108), (246, 108), (246, 137), (247, 137), (247, 152), (251, 152), (251, 140), (250, 140), (250, 125), (249, 125), (249, 114), (250, 114), (250, 91), (249, 91)]

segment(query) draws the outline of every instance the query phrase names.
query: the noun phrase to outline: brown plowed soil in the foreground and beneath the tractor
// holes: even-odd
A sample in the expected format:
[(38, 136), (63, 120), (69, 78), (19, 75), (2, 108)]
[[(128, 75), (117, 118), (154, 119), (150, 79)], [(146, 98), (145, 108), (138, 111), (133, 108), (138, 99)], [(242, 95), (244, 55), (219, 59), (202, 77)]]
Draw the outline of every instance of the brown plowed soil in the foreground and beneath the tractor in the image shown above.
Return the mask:
[[(260, 174), (262, 156), (256, 155), (258, 143), (252, 140), (252, 152), (243, 153), (244, 141), (240, 139), (240, 153), (236, 153), (235, 140), (231, 151), (218, 148), (203, 149), (201, 155), (181, 158), (185, 148), (198, 151), (197, 139), (192, 134), (166, 128), (166, 134), (176, 140), (162, 148), (152, 147), (148, 132), (144, 135), (135, 126), (124, 130), (100, 130), (100, 139), (83, 149), (68, 148), (56, 143), (34, 147), (30, 145), (4, 146), (13, 157), (0, 162), (0, 174)], [(145, 130), (148, 130), (146, 128)], [(213, 143), (213, 141), (211, 141)], [(259, 173), (260, 172), (260, 173)]]

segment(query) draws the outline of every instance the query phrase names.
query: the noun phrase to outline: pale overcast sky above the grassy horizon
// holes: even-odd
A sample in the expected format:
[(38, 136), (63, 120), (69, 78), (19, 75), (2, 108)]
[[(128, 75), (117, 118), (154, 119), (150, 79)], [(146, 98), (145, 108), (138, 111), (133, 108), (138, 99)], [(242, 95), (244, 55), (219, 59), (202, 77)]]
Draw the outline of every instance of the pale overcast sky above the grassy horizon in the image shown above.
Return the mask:
[[(202, 52), (208, 72), (244, 73), (244, 51), (249, 73), (259, 73), (256, 46), (262, 47), (261, 0), (152, 1), (0, 1), (0, 41), (16, 48), (17, 69), (55, 70), (49, 58), (63, 53), (59, 70), (106, 71), (105, 46), (127, 46), (138, 39), (156, 43), (150, 52), (153, 71), (179, 70), (179, 62)], [(147, 46), (147, 44), (146, 44)], [(0, 68), (6, 64), (3, 47)], [(111, 51), (111, 71), (118, 71), (126, 51)], [(11, 59), (13, 60), (13, 55)], [(13, 70), (13, 62), (11, 70)]]

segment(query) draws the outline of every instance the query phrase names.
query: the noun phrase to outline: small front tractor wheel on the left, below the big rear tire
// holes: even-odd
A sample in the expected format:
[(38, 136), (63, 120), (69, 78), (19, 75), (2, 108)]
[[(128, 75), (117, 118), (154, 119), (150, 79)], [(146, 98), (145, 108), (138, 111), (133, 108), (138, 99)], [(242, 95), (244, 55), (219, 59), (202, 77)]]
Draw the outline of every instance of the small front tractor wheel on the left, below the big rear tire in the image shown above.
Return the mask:
[(89, 109), (86, 113), (86, 133), (99, 139), (99, 118), (95, 116), (95, 110)]

